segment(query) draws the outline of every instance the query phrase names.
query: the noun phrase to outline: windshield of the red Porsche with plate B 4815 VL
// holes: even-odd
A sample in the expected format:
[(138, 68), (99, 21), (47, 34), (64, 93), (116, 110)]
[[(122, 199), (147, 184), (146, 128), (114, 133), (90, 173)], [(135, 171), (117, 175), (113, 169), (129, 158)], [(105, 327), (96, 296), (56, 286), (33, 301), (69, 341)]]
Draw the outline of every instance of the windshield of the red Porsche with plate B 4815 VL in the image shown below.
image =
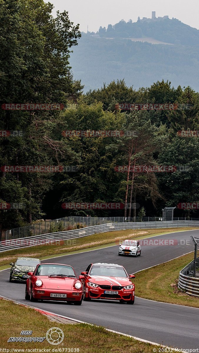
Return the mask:
[(42, 264), (40, 265), (35, 273), (35, 276), (71, 276), (75, 277), (75, 272), (72, 267), (67, 265), (49, 265), (49, 264)]

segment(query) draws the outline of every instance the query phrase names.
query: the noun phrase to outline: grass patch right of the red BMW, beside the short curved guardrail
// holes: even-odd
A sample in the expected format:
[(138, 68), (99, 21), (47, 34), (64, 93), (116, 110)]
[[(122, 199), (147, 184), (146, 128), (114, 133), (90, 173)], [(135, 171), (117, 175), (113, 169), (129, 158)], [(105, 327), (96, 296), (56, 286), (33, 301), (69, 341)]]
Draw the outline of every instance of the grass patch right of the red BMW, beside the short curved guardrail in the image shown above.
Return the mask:
[(135, 275), (135, 293), (137, 297), (163, 301), (179, 305), (199, 308), (199, 298), (186, 294), (177, 288), (178, 276), (194, 253), (183, 255), (177, 259), (137, 272)]

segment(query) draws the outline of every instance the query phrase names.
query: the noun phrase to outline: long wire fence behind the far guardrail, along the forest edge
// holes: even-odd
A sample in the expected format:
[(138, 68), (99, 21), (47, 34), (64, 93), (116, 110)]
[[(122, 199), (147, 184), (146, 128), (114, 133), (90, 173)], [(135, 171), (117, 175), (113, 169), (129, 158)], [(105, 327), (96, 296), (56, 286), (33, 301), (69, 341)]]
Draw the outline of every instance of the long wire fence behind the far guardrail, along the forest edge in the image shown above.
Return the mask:
[[(198, 218), (174, 217), (174, 221), (199, 221)], [(161, 222), (162, 217), (80, 217), (69, 216), (56, 220), (46, 220), (28, 226), (2, 231), (1, 240), (31, 237), (32, 235), (47, 234), (52, 232), (70, 231), (106, 223), (124, 222)]]

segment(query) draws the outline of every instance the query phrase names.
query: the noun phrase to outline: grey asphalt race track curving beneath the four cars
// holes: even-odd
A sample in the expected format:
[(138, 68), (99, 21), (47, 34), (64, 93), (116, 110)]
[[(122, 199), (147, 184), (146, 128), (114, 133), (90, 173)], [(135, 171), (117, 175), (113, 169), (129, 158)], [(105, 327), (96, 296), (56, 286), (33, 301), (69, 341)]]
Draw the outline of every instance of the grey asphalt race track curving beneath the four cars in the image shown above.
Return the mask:
[[(42, 262), (70, 264), (76, 270), (77, 275), (80, 275), (81, 271), (85, 271), (92, 262), (117, 263), (122, 264), (131, 274), (193, 251), (191, 235), (198, 237), (199, 230), (148, 238), (153, 240), (175, 239), (176, 245), (142, 245), (141, 256), (137, 258), (118, 256), (117, 245)], [(182, 245), (185, 244), (185, 240), (188, 240), (188, 245)], [(155, 271), (154, 268), (154, 273)], [(0, 272), (0, 295), (30, 305), (30, 301), (24, 299), (25, 284), (9, 283), (9, 274), (10, 270)], [(145, 283), (143, 283), (144, 285)], [(141, 298), (136, 298), (135, 304), (132, 306), (116, 301), (102, 300), (82, 302), (81, 306), (45, 301), (31, 303), (31, 306), (104, 326), (148, 341), (162, 343), (166, 346), (183, 349), (199, 348), (199, 309), (197, 308), (159, 303)], [(31, 329), (31, 327), (27, 329)]]

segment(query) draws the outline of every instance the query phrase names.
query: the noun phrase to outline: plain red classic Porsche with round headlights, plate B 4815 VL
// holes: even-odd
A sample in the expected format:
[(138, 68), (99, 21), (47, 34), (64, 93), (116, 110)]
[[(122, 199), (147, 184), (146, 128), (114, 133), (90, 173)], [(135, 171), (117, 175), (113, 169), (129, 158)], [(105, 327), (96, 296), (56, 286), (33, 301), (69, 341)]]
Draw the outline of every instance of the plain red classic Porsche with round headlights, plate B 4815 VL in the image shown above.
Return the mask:
[(44, 263), (28, 272), (25, 299), (30, 301), (62, 300), (82, 304), (82, 284), (72, 266)]

